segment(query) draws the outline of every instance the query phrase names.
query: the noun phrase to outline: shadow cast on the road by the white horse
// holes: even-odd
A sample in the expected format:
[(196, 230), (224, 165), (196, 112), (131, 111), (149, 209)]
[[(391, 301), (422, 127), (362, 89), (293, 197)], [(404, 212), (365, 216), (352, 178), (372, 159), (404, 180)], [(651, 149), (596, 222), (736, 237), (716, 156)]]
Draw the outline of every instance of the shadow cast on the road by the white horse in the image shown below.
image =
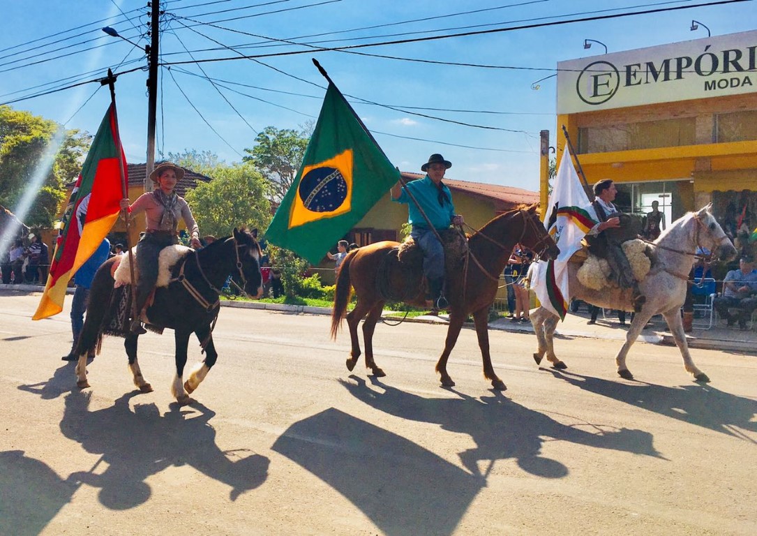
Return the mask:
[(567, 370), (542, 369), (584, 391), (757, 443), (737, 429), (757, 432), (757, 400), (720, 391), (710, 384), (666, 387), (646, 382), (616, 382)]

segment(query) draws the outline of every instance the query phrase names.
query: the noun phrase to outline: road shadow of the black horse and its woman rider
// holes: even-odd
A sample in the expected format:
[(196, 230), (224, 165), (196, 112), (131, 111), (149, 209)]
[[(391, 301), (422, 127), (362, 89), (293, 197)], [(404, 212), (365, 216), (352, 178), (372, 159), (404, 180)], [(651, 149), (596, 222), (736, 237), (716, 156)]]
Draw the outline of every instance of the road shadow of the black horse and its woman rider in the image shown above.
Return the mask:
[[(171, 466), (189, 465), (229, 485), (231, 500), (266, 481), (269, 459), (260, 454), (240, 457), (238, 451), (222, 451), (215, 444), (216, 431), (209, 424), (215, 413), (201, 404), (192, 409), (172, 404), (160, 415), (155, 404), (129, 400), (124, 394), (112, 407), (89, 410), (91, 392), (71, 391), (65, 398), (61, 432), (79, 442), (89, 453), (101, 454), (106, 469), (95, 474), (75, 472), (70, 479), (100, 488), (98, 498), (112, 510), (126, 510), (151, 496), (146, 480)], [(236, 458), (236, 460), (233, 460)]]

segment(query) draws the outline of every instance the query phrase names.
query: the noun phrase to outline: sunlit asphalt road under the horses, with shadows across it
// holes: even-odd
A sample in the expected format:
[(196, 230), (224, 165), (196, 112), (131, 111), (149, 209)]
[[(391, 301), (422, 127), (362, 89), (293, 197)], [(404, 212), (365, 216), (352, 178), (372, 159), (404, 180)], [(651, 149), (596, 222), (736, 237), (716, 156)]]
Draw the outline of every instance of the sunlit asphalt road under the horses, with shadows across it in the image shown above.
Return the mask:
[(68, 310), (33, 322), (38, 303), (0, 292), (0, 534), (757, 534), (755, 357), (695, 350), (698, 385), (637, 344), (628, 382), (617, 341), (560, 339), (556, 372), (491, 332), (499, 393), (464, 329), (447, 390), (444, 326), (379, 325), (378, 380), (327, 316), (224, 308), (178, 407), (170, 331), (140, 338), (154, 392), (119, 338), (79, 391)]

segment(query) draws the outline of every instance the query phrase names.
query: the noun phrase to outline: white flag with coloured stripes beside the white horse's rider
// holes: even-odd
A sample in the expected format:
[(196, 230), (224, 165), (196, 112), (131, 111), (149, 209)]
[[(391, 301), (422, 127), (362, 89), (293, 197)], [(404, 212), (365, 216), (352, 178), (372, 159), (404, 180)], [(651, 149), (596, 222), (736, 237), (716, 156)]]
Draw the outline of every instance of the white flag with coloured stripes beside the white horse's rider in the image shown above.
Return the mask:
[[(568, 261), (581, 248), (581, 238), (599, 222), (567, 148), (562, 154), (544, 222), (560, 254), (555, 260), (540, 260), (534, 264), (531, 288), (543, 307), (565, 319), (570, 300)], [(553, 223), (550, 225), (550, 222)]]

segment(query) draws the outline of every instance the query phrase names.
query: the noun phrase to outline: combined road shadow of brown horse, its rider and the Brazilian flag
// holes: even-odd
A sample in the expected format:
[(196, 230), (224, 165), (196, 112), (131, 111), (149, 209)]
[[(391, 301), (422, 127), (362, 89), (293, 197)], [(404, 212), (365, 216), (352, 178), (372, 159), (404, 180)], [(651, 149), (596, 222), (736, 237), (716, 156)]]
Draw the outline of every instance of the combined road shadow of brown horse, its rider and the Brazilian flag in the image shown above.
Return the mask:
[[(405, 438), (334, 408), (291, 425), (273, 445), (335, 488), (385, 534), (452, 534), (486, 481), (494, 461), (515, 459), (525, 472), (562, 478), (568, 468), (541, 455), (544, 441), (571, 441), (659, 457), (643, 431), (585, 423), (563, 425), (493, 391), (480, 400), (423, 398), (372, 379), (339, 381), (385, 413), (470, 435), (462, 467)], [(483, 469), (479, 466), (480, 462)]]

